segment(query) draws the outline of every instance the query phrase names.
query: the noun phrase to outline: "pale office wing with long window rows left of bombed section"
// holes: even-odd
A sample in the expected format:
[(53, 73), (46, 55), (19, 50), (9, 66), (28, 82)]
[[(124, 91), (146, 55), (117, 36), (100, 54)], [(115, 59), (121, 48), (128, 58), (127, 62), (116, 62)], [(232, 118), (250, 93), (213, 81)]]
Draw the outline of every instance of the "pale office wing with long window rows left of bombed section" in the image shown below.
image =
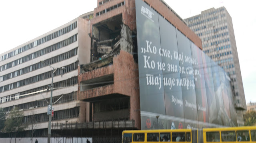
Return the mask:
[[(35, 135), (47, 136), (49, 119), (46, 113), (52, 71), (56, 68), (60, 69), (54, 72), (53, 78), (52, 123), (83, 121), (81, 112), (86, 104), (77, 100), (77, 67), (90, 62), (90, 16), (92, 12), (0, 56), (0, 108), (8, 114), (17, 107), (24, 113), (24, 123), (31, 123), (32, 117), (36, 118), (36, 129), (40, 132)], [(29, 129), (30, 126), (26, 128)]]

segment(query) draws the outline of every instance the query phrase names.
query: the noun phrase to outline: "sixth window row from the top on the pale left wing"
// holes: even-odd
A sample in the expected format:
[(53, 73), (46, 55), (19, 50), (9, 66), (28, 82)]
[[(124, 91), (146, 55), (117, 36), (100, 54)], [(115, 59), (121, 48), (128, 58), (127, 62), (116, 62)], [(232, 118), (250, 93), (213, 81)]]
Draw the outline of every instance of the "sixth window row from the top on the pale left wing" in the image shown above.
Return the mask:
[[(68, 94), (52, 97), (52, 103), (58, 100), (56, 104), (62, 104), (62, 103), (74, 101), (76, 99), (77, 99), (77, 92), (71, 92)], [(48, 106), (48, 103), (50, 103), (50, 98), (46, 98), (45, 100), (36, 100), (34, 102), (19, 104), (19, 105), (16, 105), (15, 107), (17, 107), (20, 111), (22, 111), (27, 109), (45, 107), (45, 106)], [(3, 110), (4, 112), (10, 112), (13, 108), (14, 108), (13, 106), (10, 106), (10, 107), (3, 108)]]

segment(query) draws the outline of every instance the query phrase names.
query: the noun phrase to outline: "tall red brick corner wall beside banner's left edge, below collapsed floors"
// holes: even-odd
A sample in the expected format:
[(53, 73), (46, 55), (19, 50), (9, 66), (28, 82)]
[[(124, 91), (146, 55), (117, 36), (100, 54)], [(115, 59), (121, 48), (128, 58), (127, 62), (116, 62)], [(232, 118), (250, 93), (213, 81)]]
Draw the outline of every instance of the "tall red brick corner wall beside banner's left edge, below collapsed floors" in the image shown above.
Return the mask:
[(135, 120), (135, 127), (140, 128), (140, 90), (138, 64), (133, 55), (120, 51), (114, 57), (114, 92), (130, 96), (130, 119)]

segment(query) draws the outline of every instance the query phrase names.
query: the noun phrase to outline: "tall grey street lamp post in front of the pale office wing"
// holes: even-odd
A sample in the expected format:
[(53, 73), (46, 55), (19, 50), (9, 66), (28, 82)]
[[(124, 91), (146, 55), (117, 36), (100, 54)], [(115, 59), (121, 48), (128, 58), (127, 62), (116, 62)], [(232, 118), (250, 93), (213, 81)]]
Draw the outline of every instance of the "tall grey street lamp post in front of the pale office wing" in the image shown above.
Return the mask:
[[(51, 84), (51, 98), (50, 98), (50, 115), (49, 115), (49, 123), (48, 123), (48, 143), (50, 143), (50, 141), (51, 141), (51, 123), (52, 123), (52, 88), (53, 88), (53, 76), (54, 76), (54, 72), (57, 70), (57, 69), (59, 69), (59, 68), (56, 68), (56, 69), (54, 69), (54, 67), (52, 67), (50, 64), (48, 64), (48, 63), (45, 63), (44, 61), (40, 61), (41, 63), (44, 63), (44, 64), (46, 64), (46, 65), (49, 65), (50, 66), (50, 68), (52, 69), (52, 84)], [(63, 69), (66, 69), (65, 67), (62, 67), (62, 70)]]

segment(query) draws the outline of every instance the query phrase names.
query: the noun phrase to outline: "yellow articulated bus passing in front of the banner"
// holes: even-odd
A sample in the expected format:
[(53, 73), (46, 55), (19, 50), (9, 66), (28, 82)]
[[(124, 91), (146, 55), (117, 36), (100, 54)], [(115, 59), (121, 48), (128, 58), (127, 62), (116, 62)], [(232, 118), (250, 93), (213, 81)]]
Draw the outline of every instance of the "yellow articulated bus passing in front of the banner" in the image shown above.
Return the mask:
[(123, 131), (122, 143), (256, 143), (256, 126)]

